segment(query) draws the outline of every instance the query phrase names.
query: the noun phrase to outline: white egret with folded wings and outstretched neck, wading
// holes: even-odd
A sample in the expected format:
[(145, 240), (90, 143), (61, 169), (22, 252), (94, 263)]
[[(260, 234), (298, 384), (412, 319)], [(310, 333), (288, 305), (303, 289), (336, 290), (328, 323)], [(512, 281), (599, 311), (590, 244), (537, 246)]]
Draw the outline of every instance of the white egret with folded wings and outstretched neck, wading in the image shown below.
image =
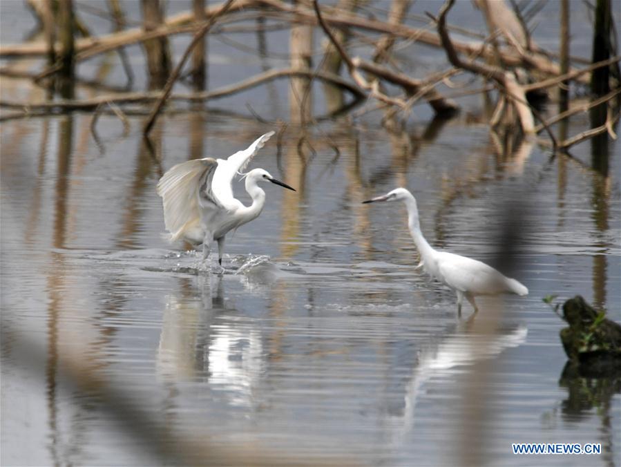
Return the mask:
[(417, 269), (423, 267), (430, 276), (448, 285), (457, 293), (457, 314), (459, 316), (461, 316), (461, 303), (464, 301), (464, 297), (474, 307), (476, 313), (479, 311), (475, 303), (475, 296), (477, 295), (528, 294), (528, 289), (517, 280), (503, 276), (499, 271), (481, 263), (481, 261), (448, 253), (448, 251), (433, 249), (421, 232), (419, 209), (416, 199), (410, 191), (405, 188), (397, 188), (384, 196), (378, 196), (363, 201), (363, 203), (376, 201), (405, 202), (405, 207), (408, 208), (410, 234), (421, 255), (421, 262)]

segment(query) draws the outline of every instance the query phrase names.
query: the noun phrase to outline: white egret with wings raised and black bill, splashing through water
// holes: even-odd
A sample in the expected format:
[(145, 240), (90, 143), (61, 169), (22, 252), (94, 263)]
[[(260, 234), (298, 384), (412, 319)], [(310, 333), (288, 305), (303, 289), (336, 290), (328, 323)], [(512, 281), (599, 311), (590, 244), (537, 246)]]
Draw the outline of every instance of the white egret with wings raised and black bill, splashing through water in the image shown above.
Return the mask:
[(246, 191), (252, 198), (244, 206), (233, 197), (231, 182), (240, 173), (274, 131), (265, 133), (244, 151), (224, 159), (195, 159), (173, 166), (157, 183), (157, 194), (164, 204), (164, 222), (170, 240), (187, 240), (194, 245), (202, 243), (202, 257), (207, 259), (211, 242), (218, 242), (218, 263), (222, 265), (224, 238), (240, 225), (255, 219), (265, 204), (265, 191), (258, 182), (272, 182), (296, 191), (276, 180), (263, 169), (254, 169), (244, 175)]

